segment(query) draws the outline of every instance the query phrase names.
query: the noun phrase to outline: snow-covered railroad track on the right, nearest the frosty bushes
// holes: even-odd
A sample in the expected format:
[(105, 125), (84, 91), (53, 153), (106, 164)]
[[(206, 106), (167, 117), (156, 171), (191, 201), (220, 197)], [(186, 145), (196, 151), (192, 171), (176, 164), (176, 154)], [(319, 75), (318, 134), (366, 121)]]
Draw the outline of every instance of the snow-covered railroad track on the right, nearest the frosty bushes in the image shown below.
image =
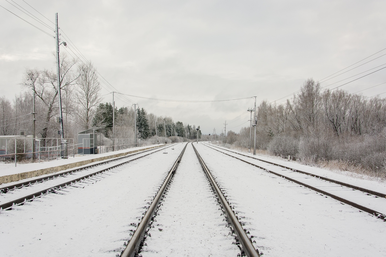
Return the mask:
[[(223, 148), (212, 147), (208, 144), (204, 145), (227, 156), (231, 156), (237, 160), (248, 163), (249, 165), (261, 168), (276, 176), (283, 177), (291, 182), (332, 197), (335, 200), (351, 205), (361, 211), (370, 213), (386, 222), (386, 199), (383, 197), (384, 194), (382, 193), (367, 190), (365, 188), (359, 189), (357, 186), (352, 186), (336, 180), (330, 180), (328, 178), (312, 176), (313, 174), (311, 173), (294, 170), (277, 163), (263, 161), (258, 158), (243, 155)], [(366, 191), (371, 191), (372, 194)]]

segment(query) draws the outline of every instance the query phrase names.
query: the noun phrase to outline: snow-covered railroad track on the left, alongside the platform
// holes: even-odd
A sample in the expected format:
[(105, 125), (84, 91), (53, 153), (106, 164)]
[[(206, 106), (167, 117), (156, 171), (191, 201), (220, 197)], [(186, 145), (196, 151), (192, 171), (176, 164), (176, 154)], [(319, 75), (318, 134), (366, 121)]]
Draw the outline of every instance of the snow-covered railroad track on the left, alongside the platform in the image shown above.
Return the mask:
[(4, 187), (3, 193), (0, 194), (0, 210), (11, 209), (14, 205), (24, 204), (27, 201), (34, 200), (36, 197), (40, 197), (41, 195), (54, 192), (55, 190), (70, 186), (73, 183), (90, 179), (95, 175), (112, 170), (140, 158), (144, 158), (174, 145), (175, 144), (172, 144), (167, 147), (161, 146), (119, 158), (112, 158), (92, 165), (57, 173), (55, 175), (45, 176), (43, 178), (18, 183), (17, 185)]

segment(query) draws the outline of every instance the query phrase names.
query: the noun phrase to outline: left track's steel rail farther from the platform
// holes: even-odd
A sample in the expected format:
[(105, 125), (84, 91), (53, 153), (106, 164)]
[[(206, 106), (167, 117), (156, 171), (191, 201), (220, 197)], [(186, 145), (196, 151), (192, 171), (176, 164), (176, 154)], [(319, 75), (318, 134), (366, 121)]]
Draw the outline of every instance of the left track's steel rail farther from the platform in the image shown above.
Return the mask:
[[(168, 147), (171, 147), (171, 146), (173, 146), (173, 145), (170, 145), (170, 146), (168, 146)], [(76, 183), (76, 182), (79, 182), (79, 181), (81, 181), (81, 180), (84, 180), (84, 179), (90, 178), (90, 177), (92, 177), (92, 176), (95, 176), (95, 175), (97, 175), (97, 174), (99, 174), (99, 173), (102, 173), (102, 172), (111, 170), (111, 169), (113, 169), (113, 168), (117, 168), (118, 166), (125, 165), (126, 163), (129, 163), (129, 162), (131, 162), (131, 161), (138, 160), (138, 159), (140, 159), (140, 158), (143, 158), (143, 157), (145, 157), (145, 156), (151, 155), (151, 154), (156, 153), (156, 152), (158, 152), (158, 151), (161, 151), (161, 150), (163, 150), (163, 149), (164, 149), (164, 148), (161, 147), (160, 149), (157, 149), (156, 151), (154, 151), (154, 152), (152, 152), (152, 153), (148, 153), (148, 154), (146, 154), (146, 155), (139, 156), (139, 157), (137, 157), (137, 158), (134, 158), (134, 159), (125, 161), (125, 162), (123, 162), (123, 163), (119, 163), (119, 164), (117, 164), (117, 165), (113, 165), (113, 166), (104, 168), (104, 169), (102, 169), (102, 170), (95, 171), (95, 172), (93, 172), (93, 173), (90, 173), (90, 174), (87, 174), (87, 175), (84, 175), (84, 176), (75, 178), (75, 179), (73, 179), (73, 180), (70, 180), (70, 181), (67, 181), (67, 182), (64, 182), (64, 183), (61, 183), (61, 184), (59, 184), (59, 185), (50, 186), (49, 188), (46, 188), (46, 189), (44, 189), (44, 190), (37, 191), (37, 192), (35, 192), (35, 193), (32, 193), (32, 194), (27, 195), (27, 196), (24, 196), (24, 197), (20, 197), (20, 198), (18, 198), (18, 199), (16, 199), (16, 200), (12, 200), (12, 201), (9, 201), (9, 202), (7, 202), (7, 203), (3, 203), (3, 204), (0, 205), (0, 210), (5, 210), (5, 209), (8, 209), (8, 208), (12, 208), (12, 206), (14, 206), (14, 205), (23, 204), (23, 203), (25, 203), (25, 202), (27, 202), (27, 201), (29, 201), (29, 200), (33, 200), (33, 199), (36, 198), (36, 197), (40, 197), (41, 195), (44, 195), (44, 194), (46, 194), (46, 193), (50, 193), (50, 192), (52, 192), (52, 191), (54, 191), (54, 190), (56, 190), (56, 189), (60, 189), (60, 188), (65, 187), (65, 186), (70, 186), (72, 183)]]

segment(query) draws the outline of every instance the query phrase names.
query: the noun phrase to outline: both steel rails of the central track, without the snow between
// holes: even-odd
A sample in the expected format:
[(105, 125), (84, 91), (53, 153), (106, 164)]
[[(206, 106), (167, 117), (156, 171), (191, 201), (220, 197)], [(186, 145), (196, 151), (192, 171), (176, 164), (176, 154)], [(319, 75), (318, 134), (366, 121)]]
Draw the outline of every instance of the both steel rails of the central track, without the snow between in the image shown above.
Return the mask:
[[(193, 143), (191, 145), (193, 146)], [(142, 217), (141, 222), (135, 226), (136, 228), (131, 239), (128, 242), (124, 243), (125, 249), (122, 250), (121, 254), (117, 254), (117, 256), (142, 256), (139, 253), (141, 253), (142, 247), (146, 245), (146, 238), (151, 237), (149, 231), (151, 230), (151, 228), (154, 228), (154, 225), (152, 224), (153, 222), (155, 222), (157, 212), (160, 210), (161, 205), (163, 205), (162, 200), (164, 197), (166, 197), (166, 192), (171, 184), (171, 181), (173, 181), (173, 176), (177, 171), (178, 165), (181, 162), (181, 159), (185, 153), (187, 146), (188, 144), (186, 144), (185, 148), (181, 151), (173, 167), (169, 171), (168, 176), (166, 176), (163, 185), (159, 188), (158, 193), (154, 196), (154, 199), (149, 208), (147, 208), (147, 211)], [(221, 215), (224, 215), (225, 217), (223, 220), (229, 223), (229, 227), (232, 227), (232, 235), (233, 233), (235, 233), (235, 244), (239, 246), (241, 252), (241, 254), (239, 255), (248, 257), (260, 256), (258, 250), (254, 248), (251, 239), (247, 235), (247, 232), (242, 228), (242, 225), (236, 217), (232, 206), (230, 206), (227, 202), (226, 197), (223, 195), (222, 191), (220, 190), (219, 186), (217, 185), (215, 179), (211, 175), (198, 151), (194, 146), (193, 149), (202, 169), (205, 171), (208, 181), (210, 182), (210, 187), (212, 188), (213, 193), (215, 193), (216, 195), (216, 200), (221, 206), (221, 208), (219, 208), (218, 210), (221, 209)], [(160, 229), (160, 231), (162, 231), (162, 229)]]

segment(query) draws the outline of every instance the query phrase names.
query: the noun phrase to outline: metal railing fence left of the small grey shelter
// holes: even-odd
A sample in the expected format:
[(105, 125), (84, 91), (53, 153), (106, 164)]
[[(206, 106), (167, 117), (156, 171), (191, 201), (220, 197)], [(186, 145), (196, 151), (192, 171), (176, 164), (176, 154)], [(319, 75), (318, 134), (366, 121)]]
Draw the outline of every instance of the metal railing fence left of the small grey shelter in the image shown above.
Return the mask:
[[(2, 137), (0, 138), (0, 160), (14, 160), (16, 162), (25, 159), (34, 158), (35, 160), (52, 161), (61, 157), (61, 139), (60, 138), (35, 138), (35, 147), (33, 147), (34, 138), (32, 137)], [(74, 155), (74, 139), (66, 138), (64, 140), (64, 156)]]

